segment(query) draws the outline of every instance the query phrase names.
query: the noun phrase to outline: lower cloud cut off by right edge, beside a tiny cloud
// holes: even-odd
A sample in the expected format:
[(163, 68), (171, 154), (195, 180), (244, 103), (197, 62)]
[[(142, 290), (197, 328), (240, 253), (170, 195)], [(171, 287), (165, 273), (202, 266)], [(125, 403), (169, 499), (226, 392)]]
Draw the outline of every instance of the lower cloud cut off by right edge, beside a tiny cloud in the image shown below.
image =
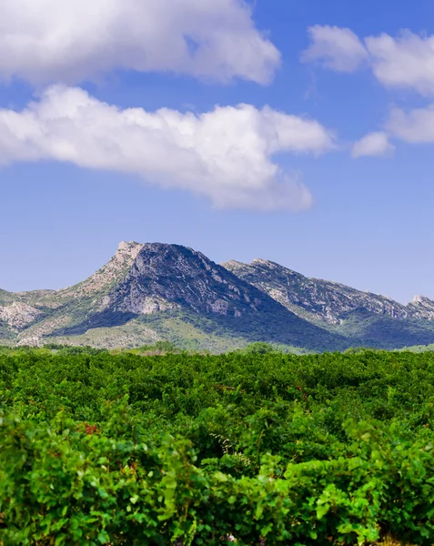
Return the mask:
[(387, 123), (389, 133), (413, 144), (434, 143), (434, 105), (408, 113), (394, 108)]

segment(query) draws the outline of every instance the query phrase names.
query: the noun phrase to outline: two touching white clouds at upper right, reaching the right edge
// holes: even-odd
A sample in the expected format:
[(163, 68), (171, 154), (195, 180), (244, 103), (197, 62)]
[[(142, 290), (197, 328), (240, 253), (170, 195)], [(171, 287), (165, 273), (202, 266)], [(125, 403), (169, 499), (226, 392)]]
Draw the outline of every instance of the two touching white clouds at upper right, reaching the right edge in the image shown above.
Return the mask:
[(383, 86), (408, 87), (421, 95), (434, 95), (434, 35), (409, 30), (398, 36), (368, 36), (360, 40), (348, 28), (312, 26), (310, 45), (302, 54), (338, 72), (354, 72), (368, 65)]

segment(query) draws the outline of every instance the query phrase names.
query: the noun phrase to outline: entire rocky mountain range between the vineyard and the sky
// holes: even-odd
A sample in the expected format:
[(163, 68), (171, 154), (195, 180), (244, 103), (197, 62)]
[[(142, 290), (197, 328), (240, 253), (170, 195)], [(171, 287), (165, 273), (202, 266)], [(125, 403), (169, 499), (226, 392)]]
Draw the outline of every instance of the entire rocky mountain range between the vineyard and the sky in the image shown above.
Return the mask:
[(61, 290), (0, 290), (0, 343), (135, 347), (168, 339), (220, 352), (251, 341), (298, 349), (434, 342), (434, 301), (407, 306), (274, 262), (215, 262), (192, 248), (122, 242)]

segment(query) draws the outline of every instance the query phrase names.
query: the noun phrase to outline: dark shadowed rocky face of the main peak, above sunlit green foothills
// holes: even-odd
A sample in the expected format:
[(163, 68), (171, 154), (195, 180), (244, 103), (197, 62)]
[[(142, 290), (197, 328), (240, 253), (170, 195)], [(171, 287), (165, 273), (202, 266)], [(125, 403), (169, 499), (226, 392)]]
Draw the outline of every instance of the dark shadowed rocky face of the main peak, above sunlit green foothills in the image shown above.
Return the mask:
[(106, 294), (104, 307), (53, 333), (82, 335), (88, 329), (122, 326), (137, 318), (146, 323), (151, 315), (163, 321), (182, 317), (190, 324), (200, 317), (203, 328), (207, 324), (211, 331), (221, 329), (224, 336), (298, 347), (327, 349), (344, 343), (344, 339), (299, 319), (200, 252), (161, 243), (146, 244), (139, 250), (126, 276)]

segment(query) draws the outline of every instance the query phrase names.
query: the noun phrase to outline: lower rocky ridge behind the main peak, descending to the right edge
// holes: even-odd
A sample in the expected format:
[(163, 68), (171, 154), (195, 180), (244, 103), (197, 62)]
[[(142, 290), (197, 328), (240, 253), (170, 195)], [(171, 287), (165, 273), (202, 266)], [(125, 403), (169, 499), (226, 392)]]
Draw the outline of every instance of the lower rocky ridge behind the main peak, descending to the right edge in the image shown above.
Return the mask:
[(237, 277), (264, 291), (293, 313), (339, 333), (355, 345), (400, 348), (432, 343), (434, 302), (416, 297), (407, 306), (386, 296), (307, 278), (274, 262), (223, 264)]

